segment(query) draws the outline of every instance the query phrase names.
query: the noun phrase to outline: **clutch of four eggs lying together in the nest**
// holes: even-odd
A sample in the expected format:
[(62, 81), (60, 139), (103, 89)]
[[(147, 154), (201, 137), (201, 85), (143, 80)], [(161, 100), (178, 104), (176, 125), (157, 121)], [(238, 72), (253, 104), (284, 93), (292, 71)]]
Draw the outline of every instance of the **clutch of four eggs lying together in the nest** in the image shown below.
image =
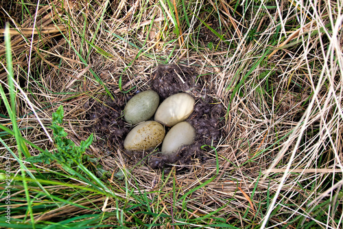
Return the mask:
[[(188, 122), (182, 121), (191, 115), (195, 102), (189, 94), (178, 93), (169, 96), (158, 106), (159, 96), (152, 90), (142, 91), (132, 97), (124, 108), (124, 118), (130, 124), (141, 123), (128, 133), (124, 148), (143, 151), (163, 142), (162, 153), (172, 155), (181, 146), (192, 144), (196, 130)], [(146, 121), (152, 116), (155, 121)], [(167, 135), (162, 124), (172, 127)]]

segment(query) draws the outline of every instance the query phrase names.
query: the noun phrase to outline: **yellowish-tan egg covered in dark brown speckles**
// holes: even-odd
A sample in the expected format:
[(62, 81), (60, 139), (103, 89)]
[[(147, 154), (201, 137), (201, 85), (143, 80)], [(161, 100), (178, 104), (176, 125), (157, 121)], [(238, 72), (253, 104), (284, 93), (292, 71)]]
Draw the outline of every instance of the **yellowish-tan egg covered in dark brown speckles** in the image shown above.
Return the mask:
[(161, 123), (146, 121), (134, 127), (124, 140), (124, 148), (130, 151), (152, 149), (165, 138), (165, 128)]

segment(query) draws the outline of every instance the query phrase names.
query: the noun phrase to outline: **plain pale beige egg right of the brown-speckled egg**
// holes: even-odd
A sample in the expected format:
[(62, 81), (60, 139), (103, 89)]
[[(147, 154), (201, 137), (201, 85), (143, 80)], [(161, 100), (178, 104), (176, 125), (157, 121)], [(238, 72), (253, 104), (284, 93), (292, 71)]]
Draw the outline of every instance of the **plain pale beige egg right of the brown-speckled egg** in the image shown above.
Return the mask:
[(192, 144), (196, 138), (196, 129), (188, 122), (179, 122), (168, 131), (162, 143), (162, 153), (172, 155), (181, 146)]

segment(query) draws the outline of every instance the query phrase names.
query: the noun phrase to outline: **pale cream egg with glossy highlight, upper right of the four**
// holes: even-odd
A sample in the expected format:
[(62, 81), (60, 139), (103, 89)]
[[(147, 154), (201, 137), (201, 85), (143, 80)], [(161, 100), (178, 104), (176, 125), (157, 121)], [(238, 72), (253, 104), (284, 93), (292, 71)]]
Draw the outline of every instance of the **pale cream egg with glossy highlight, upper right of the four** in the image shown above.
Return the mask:
[(196, 100), (186, 93), (178, 93), (166, 98), (155, 113), (155, 121), (172, 127), (186, 120), (193, 112)]

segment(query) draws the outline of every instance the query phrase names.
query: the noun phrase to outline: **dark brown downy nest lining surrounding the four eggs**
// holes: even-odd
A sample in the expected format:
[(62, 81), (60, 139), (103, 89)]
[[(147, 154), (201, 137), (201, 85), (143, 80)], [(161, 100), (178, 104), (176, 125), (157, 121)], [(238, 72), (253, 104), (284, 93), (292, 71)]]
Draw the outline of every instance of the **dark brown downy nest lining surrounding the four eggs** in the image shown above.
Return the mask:
[[(222, 137), (224, 127), (224, 107), (215, 98), (210, 97), (202, 91), (203, 85), (196, 83), (196, 72), (193, 68), (182, 65), (159, 65), (154, 70), (150, 85), (146, 89), (152, 89), (160, 96), (160, 101), (179, 93), (186, 92), (195, 96), (196, 105), (194, 111), (186, 120), (196, 129), (196, 140), (189, 146), (173, 155), (173, 157), (161, 156), (158, 151), (128, 152), (124, 151), (128, 161), (137, 163), (143, 160), (151, 168), (161, 168), (170, 163), (191, 164), (191, 161), (198, 157), (202, 162), (209, 159), (205, 154), (211, 150), (210, 146), (216, 146)], [(137, 91), (138, 92), (138, 91)], [(123, 141), (132, 129), (130, 124), (123, 119), (123, 109), (126, 102), (136, 93), (116, 94), (115, 100), (108, 100), (103, 104), (90, 100), (86, 104), (88, 109), (88, 120), (95, 120), (95, 124), (88, 131), (96, 133), (97, 137), (104, 140), (94, 142), (99, 147), (108, 151), (117, 152), (117, 148), (123, 149)], [(211, 94), (211, 93), (210, 93)], [(214, 94), (214, 93), (213, 93)], [(166, 133), (169, 128), (166, 127)], [(146, 155), (149, 155), (146, 157)]]

